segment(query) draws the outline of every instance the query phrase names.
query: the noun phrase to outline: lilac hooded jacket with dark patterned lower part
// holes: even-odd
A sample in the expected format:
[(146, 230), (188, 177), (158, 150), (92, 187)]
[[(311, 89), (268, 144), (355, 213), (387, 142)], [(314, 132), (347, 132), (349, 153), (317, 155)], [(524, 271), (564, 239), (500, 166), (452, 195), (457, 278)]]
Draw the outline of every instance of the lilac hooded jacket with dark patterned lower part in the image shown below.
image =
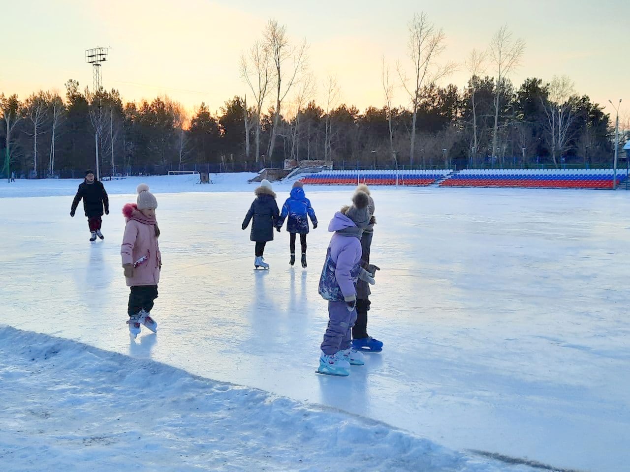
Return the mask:
[(357, 295), (361, 262), (361, 235), (363, 230), (338, 211), (328, 225), (335, 232), (330, 239), (326, 262), (319, 278), (319, 295), (324, 300), (343, 301), (344, 297)]

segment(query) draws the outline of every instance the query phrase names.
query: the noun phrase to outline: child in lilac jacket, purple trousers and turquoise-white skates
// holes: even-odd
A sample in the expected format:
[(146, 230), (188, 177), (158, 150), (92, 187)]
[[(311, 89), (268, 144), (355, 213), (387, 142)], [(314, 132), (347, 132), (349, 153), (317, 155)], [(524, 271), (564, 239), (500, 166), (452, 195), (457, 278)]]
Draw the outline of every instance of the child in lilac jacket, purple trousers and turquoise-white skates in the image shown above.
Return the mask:
[(328, 300), (328, 327), (319, 357), (321, 374), (347, 376), (350, 364), (365, 363), (350, 342), (357, 320), (357, 280), (375, 283), (373, 274), (360, 266), (363, 228), (370, 222), (368, 204), (367, 193), (358, 191), (352, 197), (352, 206), (341, 208), (328, 225), (328, 231), (334, 234), (319, 279), (319, 295)]

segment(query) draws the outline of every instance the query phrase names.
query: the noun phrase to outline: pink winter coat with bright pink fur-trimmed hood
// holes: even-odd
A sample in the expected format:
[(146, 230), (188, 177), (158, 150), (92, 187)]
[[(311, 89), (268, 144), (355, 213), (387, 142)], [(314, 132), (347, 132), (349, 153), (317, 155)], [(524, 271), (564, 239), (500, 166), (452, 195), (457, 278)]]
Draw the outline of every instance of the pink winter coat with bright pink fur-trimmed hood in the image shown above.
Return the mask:
[(130, 220), (134, 211), (139, 211), (135, 203), (127, 203), (123, 206), (122, 213), (127, 218), (127, 225), (125, 225), (125, 234), (122, 237), (120, 255), (123, 266), (125, 264), (135, 266), (134, 276), (126, 278), (127, 286), (157, 285), (162, 256), (159, 252), (155, 228), (153, 225)]

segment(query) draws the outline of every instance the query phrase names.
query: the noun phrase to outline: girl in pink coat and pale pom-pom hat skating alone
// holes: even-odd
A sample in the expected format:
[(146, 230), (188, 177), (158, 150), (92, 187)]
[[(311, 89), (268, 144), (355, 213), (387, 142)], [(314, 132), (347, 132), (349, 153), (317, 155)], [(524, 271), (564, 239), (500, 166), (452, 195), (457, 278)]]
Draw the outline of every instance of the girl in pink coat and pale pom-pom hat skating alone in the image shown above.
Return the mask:
[(137, 204), (127, 203), (122, 208), (127, 225), (120, 247), (127, 286), (131, 287), (127, 323), (133, 339), (140, 333), (140, 324), (152, 332), (157, 331), (157, 323), (150, 313), (153, 301), (157, 298), (157, 283), (162, 268), (157, 244), (157, 200), (149, 192), (147, 184), (140, 184), (137, 192)]

